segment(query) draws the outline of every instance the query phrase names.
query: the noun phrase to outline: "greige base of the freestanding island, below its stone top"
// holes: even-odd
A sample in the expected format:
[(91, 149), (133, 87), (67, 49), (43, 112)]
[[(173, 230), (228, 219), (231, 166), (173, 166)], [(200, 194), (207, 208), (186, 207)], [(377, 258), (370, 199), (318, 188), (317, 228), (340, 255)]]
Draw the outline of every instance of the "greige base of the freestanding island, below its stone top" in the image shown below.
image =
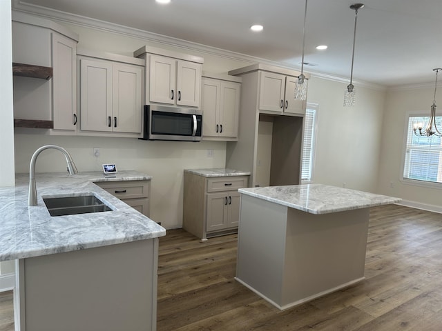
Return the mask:
[(310, 214), (241, 196), (236, 279), (280, 310), (364, 279), (369, 209)]

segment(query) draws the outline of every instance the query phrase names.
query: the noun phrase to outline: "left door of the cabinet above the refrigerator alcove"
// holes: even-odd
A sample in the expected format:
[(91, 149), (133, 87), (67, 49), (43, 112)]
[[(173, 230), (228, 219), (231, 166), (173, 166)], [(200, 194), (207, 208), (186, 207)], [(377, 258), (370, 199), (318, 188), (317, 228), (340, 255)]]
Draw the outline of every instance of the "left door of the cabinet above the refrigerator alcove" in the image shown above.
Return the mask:
[(282, 113), (285, 76), (273, 72), (260, 72), (259, 110)]

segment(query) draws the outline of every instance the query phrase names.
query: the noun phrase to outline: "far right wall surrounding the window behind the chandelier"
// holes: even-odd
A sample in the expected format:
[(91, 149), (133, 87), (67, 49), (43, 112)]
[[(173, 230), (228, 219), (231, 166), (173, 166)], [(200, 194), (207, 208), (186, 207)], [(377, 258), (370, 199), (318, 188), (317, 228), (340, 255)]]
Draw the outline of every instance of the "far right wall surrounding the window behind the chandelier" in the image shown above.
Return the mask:
[[(441, 188), (425, 188), (401, 182), (404, 150), (405, 123), (408, 113), (430, 114), (434, 87), (396, 89), (387, 93), (385, 116), (383, 118), (383, 143), (380, 154), (378, 192), (404, 199), (403, 203), (428, 210), (442, 212)], [(436, 105), (442, 105), (442, 96), (436, 98)], [(437, 108), (436, 114), (441, 116)], [(392, 183), (392, 186), (390, 185)]]

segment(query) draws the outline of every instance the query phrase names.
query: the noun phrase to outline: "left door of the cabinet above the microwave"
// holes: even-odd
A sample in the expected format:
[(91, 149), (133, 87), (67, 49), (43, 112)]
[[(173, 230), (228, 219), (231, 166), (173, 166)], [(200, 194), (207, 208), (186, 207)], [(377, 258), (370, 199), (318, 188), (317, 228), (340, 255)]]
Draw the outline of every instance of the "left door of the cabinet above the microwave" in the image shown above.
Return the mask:
[(170, 57), (151, 55), (149, 94), (151, 102), (173, 105), (177, 97), (175, 91), (176, 60)]

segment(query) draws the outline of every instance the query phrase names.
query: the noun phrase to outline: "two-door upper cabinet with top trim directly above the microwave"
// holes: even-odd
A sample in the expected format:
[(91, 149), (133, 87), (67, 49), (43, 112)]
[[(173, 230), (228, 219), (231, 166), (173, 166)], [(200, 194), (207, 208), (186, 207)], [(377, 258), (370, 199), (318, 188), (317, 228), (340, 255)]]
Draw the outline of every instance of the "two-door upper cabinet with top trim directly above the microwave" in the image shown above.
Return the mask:
[(202, 57), (146, 46), (133, 55), (146, 61), (146, 104), (200, 107)]

